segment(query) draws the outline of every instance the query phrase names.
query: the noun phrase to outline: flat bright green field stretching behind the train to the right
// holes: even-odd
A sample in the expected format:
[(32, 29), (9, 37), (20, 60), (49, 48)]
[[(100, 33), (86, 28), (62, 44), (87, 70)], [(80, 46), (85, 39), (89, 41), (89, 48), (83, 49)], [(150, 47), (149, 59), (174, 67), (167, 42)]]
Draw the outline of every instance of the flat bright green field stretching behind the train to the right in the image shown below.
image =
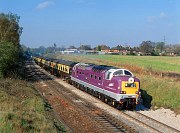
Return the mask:
[(180, 73), (180, 57), (120, 55), (86, 55), (85, 57), (118, 62), (123, 65), (136, 65), (144, 69)]

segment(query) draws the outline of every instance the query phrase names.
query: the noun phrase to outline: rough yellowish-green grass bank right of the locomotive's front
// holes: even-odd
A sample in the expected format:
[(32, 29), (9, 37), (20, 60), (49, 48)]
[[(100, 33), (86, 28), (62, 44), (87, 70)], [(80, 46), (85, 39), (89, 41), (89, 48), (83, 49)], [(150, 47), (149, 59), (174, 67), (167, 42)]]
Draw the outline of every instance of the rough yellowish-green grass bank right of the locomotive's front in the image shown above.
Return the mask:
[[(164, 107), (180, 113), (180, 84), (173, 79), (137, 75), (141, 80), (141, 89), (152, 96), (153, 107)], [(145, 96), (146, 100), (148, 96)], [(150, 101), (147, 101), (150, 102)]]

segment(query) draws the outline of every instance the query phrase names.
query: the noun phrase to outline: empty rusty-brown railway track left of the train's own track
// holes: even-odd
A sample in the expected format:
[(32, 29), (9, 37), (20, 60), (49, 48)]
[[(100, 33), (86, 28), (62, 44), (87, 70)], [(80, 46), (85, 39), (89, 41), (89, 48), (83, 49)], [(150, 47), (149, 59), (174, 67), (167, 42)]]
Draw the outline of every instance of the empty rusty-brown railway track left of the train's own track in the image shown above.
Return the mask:
[[(63, 92), (59, 89), (60, 84), (57, 82), (47, 81), (48, 84), (51, 84), (53, 87), (53, 91), (58, 93), (62, 93), (67, 99), (77, 104), (82, 110), (84, 110), (91, 119), (94, 119), (98, 123), (101, 123), (103, 126), (100, 127), (100, 130), (104, 130), (104, 127), (110, 129), (114, 133), (135, 133), (135, 129), (125, 125), (123, 122), (119, 121), (117, 118), (113, 117), (112, 115), (105, 113), (104, 111), (100, 111), (99, 108), (94, 107), (88, 101), (84, 102), (84, 99), (72, 95), (72, 92), (68, 90), (63, 90)], [(71, 97), (69, 97), (71, 96)], [(87, 104), (88, 103), (88, 104)]]

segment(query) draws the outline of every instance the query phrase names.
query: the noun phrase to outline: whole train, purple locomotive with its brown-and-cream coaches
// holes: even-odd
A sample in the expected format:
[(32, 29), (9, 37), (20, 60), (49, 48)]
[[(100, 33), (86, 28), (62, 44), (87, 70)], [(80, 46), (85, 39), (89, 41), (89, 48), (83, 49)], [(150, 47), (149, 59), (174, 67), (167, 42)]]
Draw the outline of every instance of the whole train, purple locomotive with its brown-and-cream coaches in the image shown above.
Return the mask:
[(127, 69), (33, 56), (51, 74), (86, 91), (117, 109), (135, 109), (140, 100), (140, 80)]

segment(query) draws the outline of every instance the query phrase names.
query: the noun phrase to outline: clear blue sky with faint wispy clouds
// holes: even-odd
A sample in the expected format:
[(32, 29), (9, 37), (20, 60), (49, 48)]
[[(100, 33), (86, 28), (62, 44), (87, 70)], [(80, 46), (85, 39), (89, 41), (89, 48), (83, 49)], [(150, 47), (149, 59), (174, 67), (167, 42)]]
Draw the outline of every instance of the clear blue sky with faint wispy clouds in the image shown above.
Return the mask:
[(0, 0), (0, 12), (21, 17), (28, 47), (180, 44), (180, 0)]

